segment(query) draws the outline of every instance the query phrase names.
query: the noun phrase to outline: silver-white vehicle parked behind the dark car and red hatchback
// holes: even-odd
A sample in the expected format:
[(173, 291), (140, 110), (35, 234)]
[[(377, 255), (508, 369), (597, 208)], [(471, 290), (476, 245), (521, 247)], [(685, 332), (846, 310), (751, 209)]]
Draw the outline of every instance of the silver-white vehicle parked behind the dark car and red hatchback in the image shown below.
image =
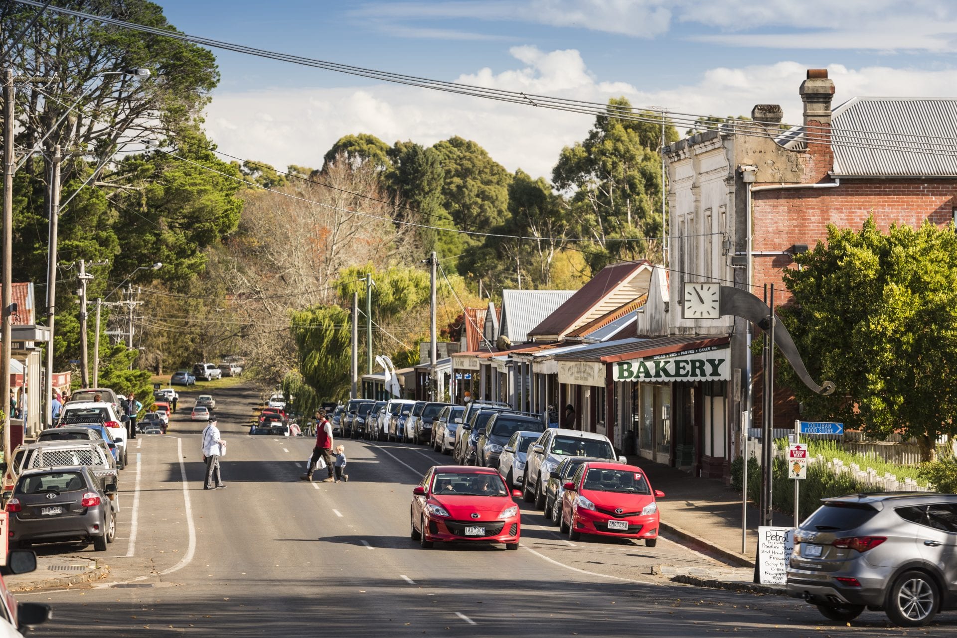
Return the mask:
[[(535, 500), (535, 507), (545, 507), (545, 482), (564, 456), (595, 456), (615, 460), (612, 442), (604, 434), (578, 429), (549, 428), (539, 437), (525, 457), (523, 496)], [(617, 460), (625, 463), (624, 456)]]

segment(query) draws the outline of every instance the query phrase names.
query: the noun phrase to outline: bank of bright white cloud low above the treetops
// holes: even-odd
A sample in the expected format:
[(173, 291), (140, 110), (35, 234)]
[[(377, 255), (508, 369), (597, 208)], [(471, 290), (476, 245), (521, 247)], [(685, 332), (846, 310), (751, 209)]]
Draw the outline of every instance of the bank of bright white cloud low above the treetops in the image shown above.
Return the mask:
[[(779, 103), (785, 121), (801, 121), (798, 87), (807, 67), (795, 61), (713, 68), (688, 84), (641, 91), (627, 82), (599, 81), (574, 50), (515, 47), (511, 54), (521, 62), (514, 69), (480, 69), (456, 81), (599, 103), (624, 95), (635, 106), (664, 105), (696, 115), (749, 115), (754, 104)], [(832, 65), (829, 71), (835, 106), (854, 96), (946, 97), (957, 85), (955, 69)], [(562, 147), (583, 140), (592, 123), (588, 115), (389, 84), (216, 93), (207, 129), (224, 152), (280, 168), (319, 167), (325, 151), (347, 134), (425, 145), (459, 135), (475, 140), (510, 171), (522, 167), (535, 177), (549, 177)], [(679, 125), (681, 133), (685, 128)]]

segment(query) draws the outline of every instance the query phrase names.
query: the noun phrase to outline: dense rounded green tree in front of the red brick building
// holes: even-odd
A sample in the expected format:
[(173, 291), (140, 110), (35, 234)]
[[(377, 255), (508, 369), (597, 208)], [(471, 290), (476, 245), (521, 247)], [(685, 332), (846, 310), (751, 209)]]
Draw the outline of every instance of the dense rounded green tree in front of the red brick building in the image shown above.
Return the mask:
[(931, 460), (957, 434), (957, 237), (929, 223), (879, 231), (828, 228), (826, 242), (785, 271), (793, 305), (782, 319), (815, 379), (812, 393), (782, 366), (813, 418), (886, 436), (916, 437)]

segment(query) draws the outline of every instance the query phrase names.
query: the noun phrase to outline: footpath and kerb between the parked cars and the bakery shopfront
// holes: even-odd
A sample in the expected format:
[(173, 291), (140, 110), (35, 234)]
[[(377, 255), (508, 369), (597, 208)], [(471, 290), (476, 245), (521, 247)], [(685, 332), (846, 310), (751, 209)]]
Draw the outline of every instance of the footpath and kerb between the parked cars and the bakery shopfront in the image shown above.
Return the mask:
[[(714, 567), (660, 565), (655, 568), (657, 574), (678, 583), (784, 595), (783, 586), (753, 582), (758, 546), (757, 507), (747, 505), (745, 551), (742, 552), (742, 505), (738, 492), (725, 486), (723, 481), (696, 478), (645, 458), (630, 456), (628, 462), (643, 469), (652, 487), (665, 494), (658, 500), (664, 536), (724, 563)], [(794, 525), (793, 517), (780, 512), (774, 512), (773, 517), (776, 526)]]

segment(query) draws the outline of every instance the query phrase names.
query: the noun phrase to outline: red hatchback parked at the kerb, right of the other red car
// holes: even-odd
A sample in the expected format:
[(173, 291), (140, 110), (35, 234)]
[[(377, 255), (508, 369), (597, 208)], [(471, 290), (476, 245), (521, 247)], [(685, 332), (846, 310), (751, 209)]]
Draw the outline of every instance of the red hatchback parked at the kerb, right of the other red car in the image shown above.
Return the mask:
[(634, 465), (583, 463), (565, 484), (561, 528), (571, 540), (595, 534), (644, 539), (654, 547), (658, 532), (655, 499), (663, 497)]

